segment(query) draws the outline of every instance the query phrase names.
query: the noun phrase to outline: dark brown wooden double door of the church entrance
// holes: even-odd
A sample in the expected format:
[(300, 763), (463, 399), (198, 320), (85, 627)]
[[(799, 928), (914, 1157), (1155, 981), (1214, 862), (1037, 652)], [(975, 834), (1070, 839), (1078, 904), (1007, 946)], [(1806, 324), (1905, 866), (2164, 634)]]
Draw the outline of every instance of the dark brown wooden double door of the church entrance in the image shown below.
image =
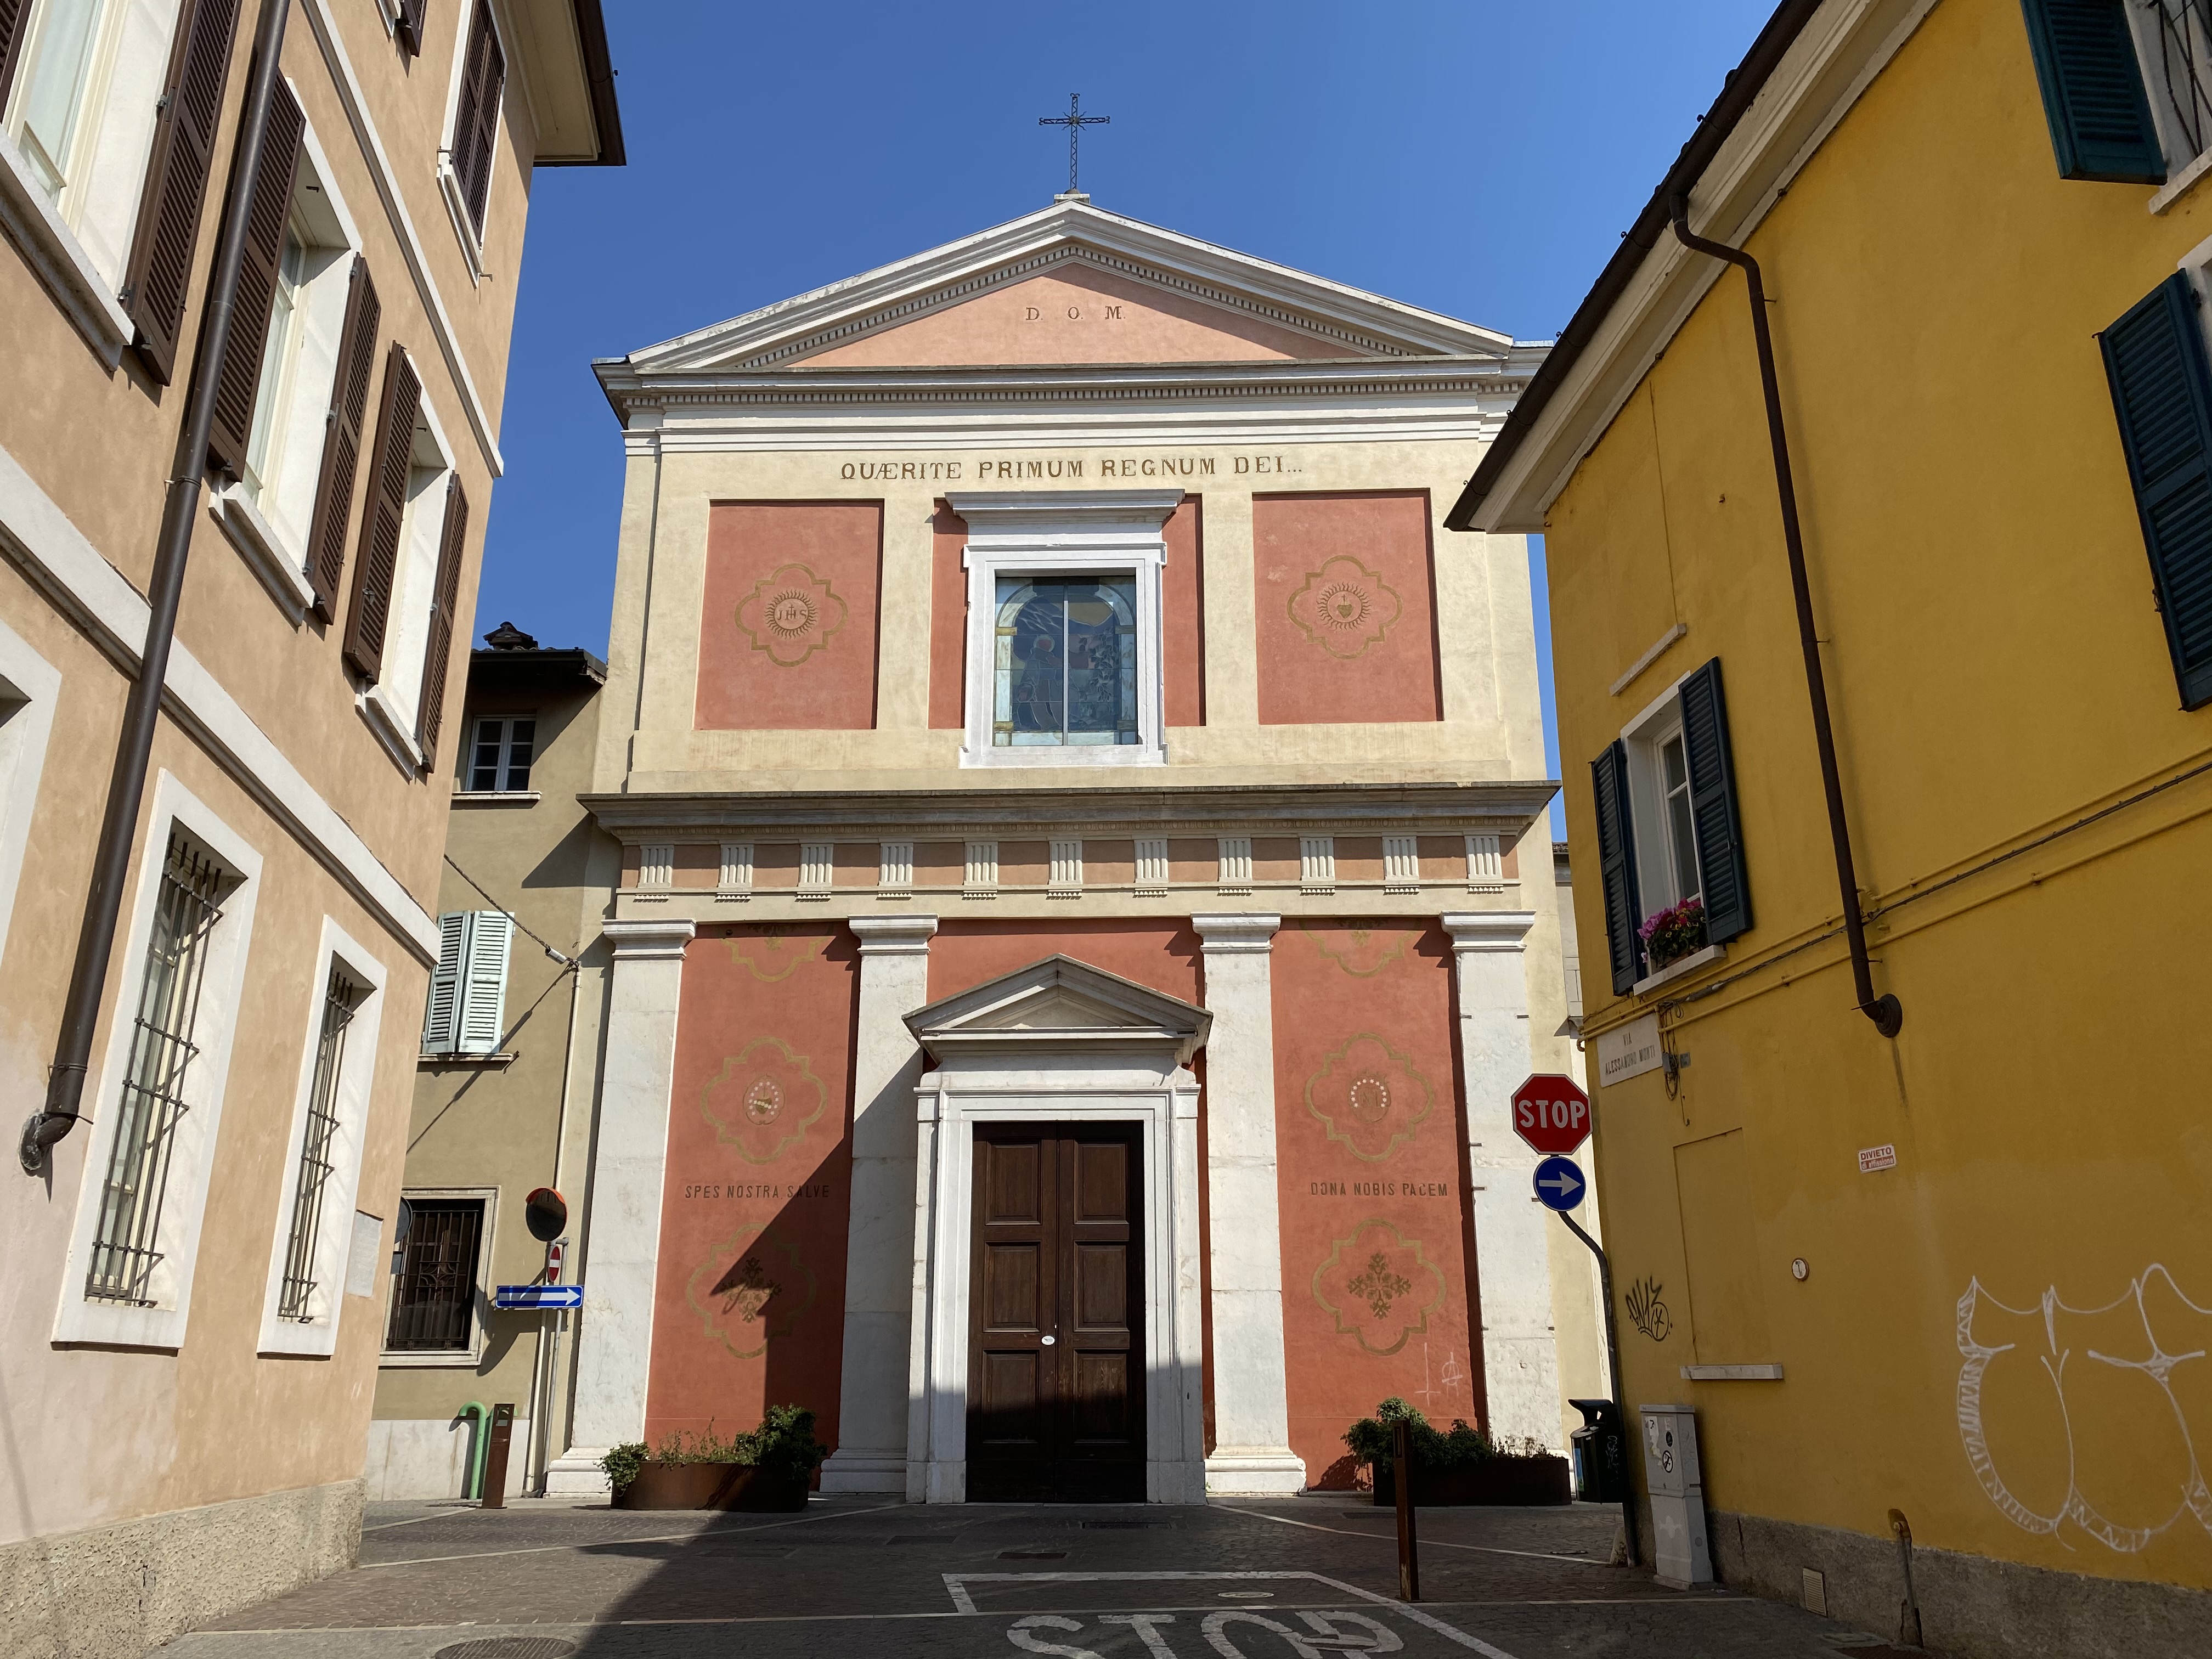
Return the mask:
[(1137, 1124), (978, 1124), (973, 1502), (1144, 1502)]

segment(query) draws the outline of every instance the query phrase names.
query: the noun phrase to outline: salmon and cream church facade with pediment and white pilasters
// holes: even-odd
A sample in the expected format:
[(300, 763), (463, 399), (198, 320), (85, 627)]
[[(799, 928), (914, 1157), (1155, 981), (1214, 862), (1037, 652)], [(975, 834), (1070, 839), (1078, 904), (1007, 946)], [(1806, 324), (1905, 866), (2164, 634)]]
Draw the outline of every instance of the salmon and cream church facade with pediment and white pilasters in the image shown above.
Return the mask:
[(1542, 347), (1060, 197), (599, 363), (624, 847), (553, 1491), (814, 1407), (827, 1491), (1564, 1444), (1588, 1254), (1520, 535)]

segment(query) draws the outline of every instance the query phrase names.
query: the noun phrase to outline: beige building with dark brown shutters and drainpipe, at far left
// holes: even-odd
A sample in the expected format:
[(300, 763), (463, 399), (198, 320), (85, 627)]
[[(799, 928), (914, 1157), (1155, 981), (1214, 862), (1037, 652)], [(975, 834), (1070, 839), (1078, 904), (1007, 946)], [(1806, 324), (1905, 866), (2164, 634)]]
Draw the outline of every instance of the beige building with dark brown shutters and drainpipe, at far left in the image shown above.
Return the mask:
[(531, 175), (622, 159), (611, 75), (597, 0), (0, 7), (9, 1655), (354, 1553)]

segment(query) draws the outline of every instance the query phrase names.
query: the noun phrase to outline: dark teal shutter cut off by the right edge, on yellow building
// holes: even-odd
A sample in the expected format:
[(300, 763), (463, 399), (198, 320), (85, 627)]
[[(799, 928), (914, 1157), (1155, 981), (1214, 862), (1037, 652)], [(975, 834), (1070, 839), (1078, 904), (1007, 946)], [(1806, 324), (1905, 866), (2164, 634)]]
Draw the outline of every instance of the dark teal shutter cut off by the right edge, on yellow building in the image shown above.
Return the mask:
[(2212, 365), (2183, 272), (2097, 336), (2183, 708), (2212, 703)]

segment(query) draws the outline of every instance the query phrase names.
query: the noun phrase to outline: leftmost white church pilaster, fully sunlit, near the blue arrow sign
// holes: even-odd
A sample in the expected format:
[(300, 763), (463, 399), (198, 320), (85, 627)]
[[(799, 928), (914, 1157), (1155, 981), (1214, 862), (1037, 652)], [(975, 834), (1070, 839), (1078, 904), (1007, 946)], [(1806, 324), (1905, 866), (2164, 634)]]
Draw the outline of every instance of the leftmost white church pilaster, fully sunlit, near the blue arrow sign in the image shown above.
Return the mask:
[(584, 1223), (584, 1310), (575, 1338), (571, 1447), (546, 1471), (553, 1495), (604, 1493), (599, 1458), (646, 1433), (653, 1290), (668, 1179), (668, 1091), (690, 920), (606, 922), (615, 967), (599, 1071), (597, 1157)]

